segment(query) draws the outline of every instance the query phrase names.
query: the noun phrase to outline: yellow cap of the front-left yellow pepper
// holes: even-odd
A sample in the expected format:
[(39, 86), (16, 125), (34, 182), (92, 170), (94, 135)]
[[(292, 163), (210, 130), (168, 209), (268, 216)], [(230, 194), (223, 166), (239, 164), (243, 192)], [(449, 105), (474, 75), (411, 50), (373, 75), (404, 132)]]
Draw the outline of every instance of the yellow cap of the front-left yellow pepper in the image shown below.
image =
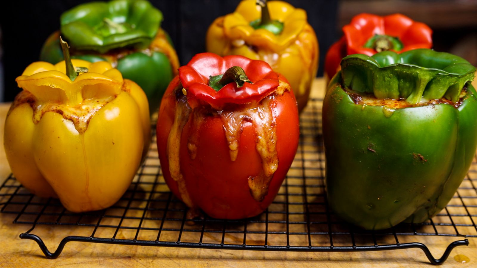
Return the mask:
[(17, 77), (18, 87), (32, 93), (40, 102), (64, 103), (74, 106), (84, 99), (104, 98), (121, 92), (123, 76), (109, 62), (71, 60), (73, 66), (85, 67), (71, 81), (66, 75), (64, 61), (55, 65), (49, 62), (33, 62)]

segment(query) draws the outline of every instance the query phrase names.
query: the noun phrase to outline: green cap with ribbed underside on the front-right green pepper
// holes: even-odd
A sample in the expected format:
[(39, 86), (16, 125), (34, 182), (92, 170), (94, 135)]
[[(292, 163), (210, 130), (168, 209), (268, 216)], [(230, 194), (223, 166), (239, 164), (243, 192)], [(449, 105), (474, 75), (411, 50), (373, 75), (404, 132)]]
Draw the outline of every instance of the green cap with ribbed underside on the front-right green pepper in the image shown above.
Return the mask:
[(430, 49), (384, 51), (372, 57), (353, 54), (342, 59), (341, 69), (345, 88), (409, 104), (441, 98), (457, 102), (476, 72), (461, 57)]

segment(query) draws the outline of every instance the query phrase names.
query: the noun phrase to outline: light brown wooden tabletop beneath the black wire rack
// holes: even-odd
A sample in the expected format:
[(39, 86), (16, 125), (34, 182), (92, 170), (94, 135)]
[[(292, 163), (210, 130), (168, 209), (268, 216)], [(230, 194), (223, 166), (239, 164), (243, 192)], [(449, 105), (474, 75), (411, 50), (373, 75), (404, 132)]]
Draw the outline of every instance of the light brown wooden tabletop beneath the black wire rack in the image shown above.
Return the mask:
[[(322, 78), (315, 80), (312, 97), (323, 96), (324, 83)], [(3, 149), (3, 124), (9, 105), (0, 104), (0, 183), (10, 174)], [(469, 209), (470, 214), (477, 214), (477, 207)], [(424, 252), (417, 248), (341, 253), (266, 252), (70, 242), (59, 258), (47, 259), (35, 242), (19, 238), (31, 225), (12, 224), (14, 217), (11, 214), (0, 214), (0, 267), (433, 267), (428, 263)], [(35, 234), (44, 240), (50, 250), (54, 250), (63, 237), (72, 234), (89, 236), (91, 233), (89, 229), (85, 232), (79, 227), (41, 225), (35, 227)], [(424, 243), (439, 258), (449, 243), (459, 239), (403, 236), (400, 237), (400, 242)], [(468, 247), (456, 247), (443, 266), (476, 267), (477, 238), (469, 238), (469, 243)], [(467, 256), (470, 261), (457, 262), (454, 257), (458, 254)]]

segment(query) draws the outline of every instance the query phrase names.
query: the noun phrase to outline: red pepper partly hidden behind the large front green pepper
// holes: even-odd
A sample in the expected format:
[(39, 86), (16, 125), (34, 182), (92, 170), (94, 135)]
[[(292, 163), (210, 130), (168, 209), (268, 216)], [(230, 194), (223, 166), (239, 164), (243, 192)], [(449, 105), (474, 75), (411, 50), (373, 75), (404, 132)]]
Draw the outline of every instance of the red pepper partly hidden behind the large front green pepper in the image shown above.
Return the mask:
[[(432, 48), (432, 30), (422, 22), (402, 14), (377, 16), (362, 13), (343, 26), (342, 38), (332, 44), (325, 58), (325, 77), (331, 79), (340, 68), (342, 58), (351, 54), (390, 50), (397, 53)], [(381, 38), (379, 38), (381, 37)]]

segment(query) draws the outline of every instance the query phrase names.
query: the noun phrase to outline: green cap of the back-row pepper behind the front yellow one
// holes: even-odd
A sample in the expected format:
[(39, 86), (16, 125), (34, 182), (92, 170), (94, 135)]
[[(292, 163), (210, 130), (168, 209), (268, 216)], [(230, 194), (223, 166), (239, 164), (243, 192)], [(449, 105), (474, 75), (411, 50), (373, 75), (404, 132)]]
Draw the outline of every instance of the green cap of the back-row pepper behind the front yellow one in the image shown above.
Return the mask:
[(61, 16), (61, 32), (76, 50), (105, 53), (114, 48), (145, 48), (162, 21), (161, 11), (146, 0), (91, 2)]

